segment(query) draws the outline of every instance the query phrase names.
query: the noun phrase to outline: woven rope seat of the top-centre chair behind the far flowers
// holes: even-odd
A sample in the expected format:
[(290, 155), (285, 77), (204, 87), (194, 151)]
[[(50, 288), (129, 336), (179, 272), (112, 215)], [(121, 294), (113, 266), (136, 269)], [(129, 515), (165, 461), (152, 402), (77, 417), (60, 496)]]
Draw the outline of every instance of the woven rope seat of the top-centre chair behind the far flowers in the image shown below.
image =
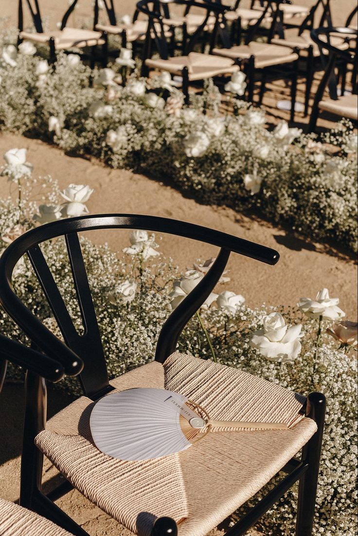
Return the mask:
[(180, 75), (188, 67), (189, 80), (202, 80), (238, 70), (232, 59), (218, 58), (210, 54), (191, 52), (188, 56), (174, 56), (169, 59), (146, 59), (148, 67)]

